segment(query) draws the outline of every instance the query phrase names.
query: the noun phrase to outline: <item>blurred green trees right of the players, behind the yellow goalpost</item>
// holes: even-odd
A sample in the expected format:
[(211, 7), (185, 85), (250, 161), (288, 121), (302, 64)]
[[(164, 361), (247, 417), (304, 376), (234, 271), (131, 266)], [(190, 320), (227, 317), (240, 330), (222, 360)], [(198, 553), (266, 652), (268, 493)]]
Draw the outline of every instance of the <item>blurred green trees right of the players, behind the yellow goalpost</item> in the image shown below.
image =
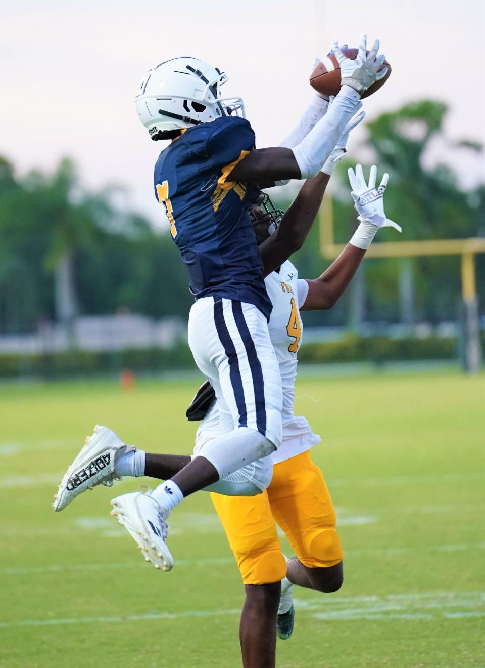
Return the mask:
[[(424, 156), (432, 140), (442, 140), (446, 146), (443, 122), (447, 110), (442, 102), (423, 100), (366, 122), (367, 143), (379, 168), (378, 179), (384, 172), (390, 174), (386, 215), (402, 226), (402, 235), (384, 230), (374, 243), (485, 235), (484, 184), (466, 191), (460, 187), (458, 175), (447, 165), (424, 166)], [(466, 140), (459, 142), (459, 146), (472, 152), (483, 151), (479, 144)], [(337, 180), (334, 232), (338, 243), (347, 242), (356, 228), (346, 174), (348, 167), (355, 164), (352, 156), (342, 160), (333, 177)], [(364, 173), (368, 174), (365, 167)], [(306, 246), (294, 256), (296, 267), (305, 267), (305, 277), (318, 276), (325, 266), (315, 253), (316, 248), (318, 230), (314, 227)], [(477, 256), (476, 266), (480, 289), (485, 279), (483, 256)], [(345, 322), (351, 329), (358, 329), (356, 323), (363, 320), (410, 325), (453, 321), (460, 301), (460, 281), (460, 258), (456, 256), (368, 259), (332, 311), (306, 313), (304, 319), (311, 325)]]

